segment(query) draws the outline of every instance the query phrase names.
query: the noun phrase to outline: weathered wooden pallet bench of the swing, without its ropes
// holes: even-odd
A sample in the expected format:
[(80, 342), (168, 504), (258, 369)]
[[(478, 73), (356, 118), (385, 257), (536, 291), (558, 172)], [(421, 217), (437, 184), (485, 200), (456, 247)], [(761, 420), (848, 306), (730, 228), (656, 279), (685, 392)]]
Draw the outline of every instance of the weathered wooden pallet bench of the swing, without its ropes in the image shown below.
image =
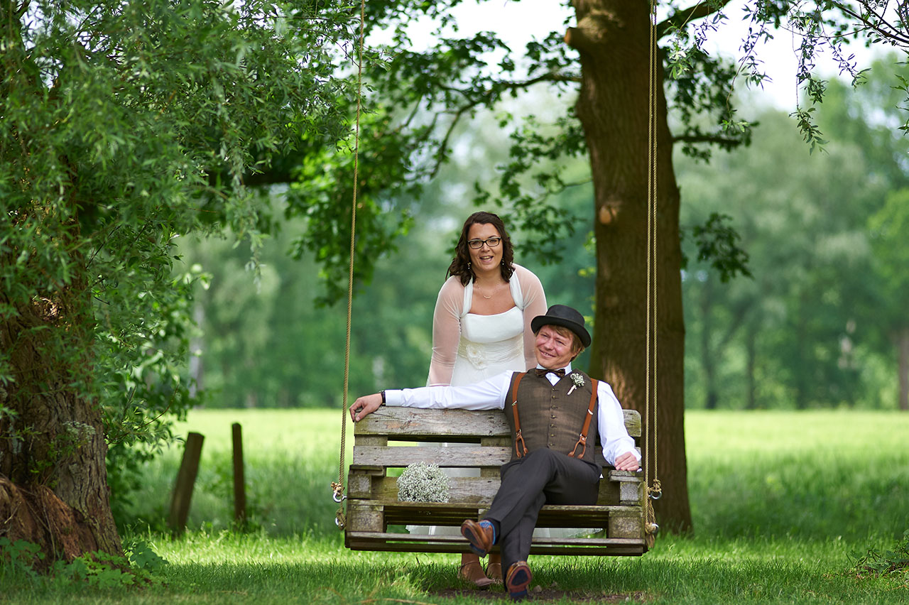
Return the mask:
[[(638, 412), (624, 411), (637, 440)], [(499, 468), (511, 459), (511, 437), (501, 411), (419, 410), (383, 407), (355, 424), (354, 458), (347, 480), (345, 544), (352, 550), (463, 552), (460, 535), (388, 531), (389, 525), (459, 527), (481, 518), (499, 488)], [(440, 442), (452, 443), (444, 447)], [(641, 555), (644, 541), (644, 478), (604, 466), (594, 506), (545, 505), (537, 527), (603, 528), (593, 538), (535, 538), (532, 554)], [(448, 502), (402, 502), (397, 477), (388, 471), (413, 462), (476, 469), (477, 477), (450, 478)]]

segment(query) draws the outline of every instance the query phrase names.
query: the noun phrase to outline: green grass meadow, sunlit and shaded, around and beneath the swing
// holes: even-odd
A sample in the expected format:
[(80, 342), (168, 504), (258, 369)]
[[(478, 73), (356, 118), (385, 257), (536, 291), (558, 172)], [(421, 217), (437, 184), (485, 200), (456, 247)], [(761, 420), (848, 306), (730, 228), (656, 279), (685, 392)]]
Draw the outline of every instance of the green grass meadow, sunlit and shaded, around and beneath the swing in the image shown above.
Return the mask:
[[(244, 430), (247, 531), (232, 530), (230, 425)], [(167, 560), (144, 588), (86, 589), (0, 573), (0, 602), (475, 603), (455, 556), (345, 550), (330, 483), (340, 412), (191, 412), (205, 435), (189, 530), (164, 531), (181, 449), (149, 465), (125, 528)], [(641, 558), (535, 557), (534, 600), (559, 603), (904, 603), (909, 571), (854, 570), (909, 530), (909, 415), (689, 412), (694, 532)], [(348, 432), (350, 424), (348, 422)], [(352, 437), (348, 434), (347, 446)], [(349, 461), (350, 453), (347, 453)]]

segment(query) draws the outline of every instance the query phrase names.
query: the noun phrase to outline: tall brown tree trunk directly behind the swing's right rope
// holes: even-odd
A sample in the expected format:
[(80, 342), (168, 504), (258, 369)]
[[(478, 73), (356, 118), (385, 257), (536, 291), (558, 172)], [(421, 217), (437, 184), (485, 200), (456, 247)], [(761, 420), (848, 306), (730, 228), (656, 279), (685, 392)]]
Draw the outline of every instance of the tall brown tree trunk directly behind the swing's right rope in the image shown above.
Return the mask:
[[(565, 41), (580, 52), (576, 104), (594, 177), (596, 311), (591, 373), (619, 400), (644, 413), (646, 322), (647, 129), (650, 64), (648, 4), (575, 0), (577, 27)], [(684, 451), (684, 318), (679, 192), (666, 122), (662, 61), (657, 61), (657, 412), (654, 502), (666, 530), (691, 529)]]

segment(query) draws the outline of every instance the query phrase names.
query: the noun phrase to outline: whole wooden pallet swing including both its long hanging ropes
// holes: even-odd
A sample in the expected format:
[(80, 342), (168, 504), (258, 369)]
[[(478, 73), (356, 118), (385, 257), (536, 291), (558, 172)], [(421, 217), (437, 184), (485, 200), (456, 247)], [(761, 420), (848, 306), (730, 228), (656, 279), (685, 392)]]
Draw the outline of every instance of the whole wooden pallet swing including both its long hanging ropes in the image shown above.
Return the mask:
[[(646, 388), (645, 413), (654, 418), (644, 431), (643, 472), (616, 471), (603, 458), (597, 445), (597, 461), (603, 466), (599, 499), (592, 506), (545, 505), (537, 527), (602, 528), (587, 538), (536, 538), (532, 554), (642, 555), (653, 546), (658, 527), (650, 500), (661, 494), (656, 476), (656, 136), (655, 136), (655, 8), (651, 5), (650, 122), (648, 150), (647, 295), (646, 295)], [(354, 199), (351, 206), (350, 270), (347, 292), (344, 397), (338, 481), (332, 483), (338, 528), (345, 531), (345, 546), (351, 550), (402, 550), (412, 552), (464, 552), (467, 541), (458, 534), (438, 535), (426, 526), (458, 527), (464, 519), (480, 519), (499, 487), (499, 468), (510, 460), (511, 433), (500, 411), (420, 410), (385, 407), (355, 425), (353, 461), (345, 495), (345, 432), (347, 388), (350, 368), (351, 310), (354, 284), (354, 234), (360, 134), (365, 0), (360, 7), (360, 41), (357, 58), (357, 109), (354, 147)], [(652, 344), (653, 343), (653, 344)], [(654, 413), (651, 415), (650, 406)], [(641, 415), (624, 411), (625, 427), (641, 450)], [(653, 441), (651, 441), (653, 433)], [(442, 446), (440, 443), (456, 445)], [(412, 445), (420, 447), (406, 447)], [(404, 446), (404, 447), (402, 447)], [(652, 455), (651, 455), (652, 454)], [(415, 462), (440, 467), (474, 469), (475, 477), (450, 478), (448, 502), (398, 501), (395, 470)], [(391, 473), (389, 471), (392, 471)], [(650, 473), (654, 481), (649, 482)], [(344, 512), (344, 501), (347, 512)], [(389, 531), (389, 526), (418, 526), (409, 533)], [(394, 528), (393, 528), (394, 529)]]

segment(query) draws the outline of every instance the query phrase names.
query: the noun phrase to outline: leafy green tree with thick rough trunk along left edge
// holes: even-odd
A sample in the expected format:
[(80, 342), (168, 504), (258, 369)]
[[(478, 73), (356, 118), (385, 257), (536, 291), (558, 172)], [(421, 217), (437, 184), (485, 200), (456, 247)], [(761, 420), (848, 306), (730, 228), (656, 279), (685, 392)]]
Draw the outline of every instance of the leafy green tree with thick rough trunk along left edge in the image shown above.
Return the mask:
[[(306, 3), (0, 2), (0, 516), (119, 552), (107, 441), (155, 443), (188, 393), (174, 242), (271, 223), (275, 150), (334, 151), (348, 15)], [(368, 233), (368, 222), (366, 233)]]

